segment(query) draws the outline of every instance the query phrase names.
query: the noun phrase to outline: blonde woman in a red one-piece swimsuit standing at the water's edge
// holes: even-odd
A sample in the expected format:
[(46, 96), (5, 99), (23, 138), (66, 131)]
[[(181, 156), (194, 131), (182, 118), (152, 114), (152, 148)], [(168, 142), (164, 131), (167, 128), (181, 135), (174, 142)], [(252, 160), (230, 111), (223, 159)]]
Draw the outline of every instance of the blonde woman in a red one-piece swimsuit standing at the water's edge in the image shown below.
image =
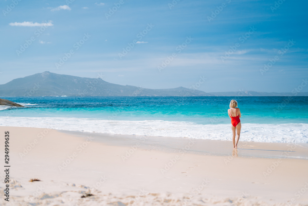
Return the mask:
[[(231, 129), (232, 129), (232, 141), (233, 141), (233, 149), (237, 149), (237, 143), (240, 139), (240, 133), (241, 133), (241, 111), (239, 108), (237, 108), (237, 101), (234, 99), (230, 102), (230, 109), (228, 109), (228, 115), (231, 118)], [(237, 140), (235, 144), (235, 129), (237, 133)]]

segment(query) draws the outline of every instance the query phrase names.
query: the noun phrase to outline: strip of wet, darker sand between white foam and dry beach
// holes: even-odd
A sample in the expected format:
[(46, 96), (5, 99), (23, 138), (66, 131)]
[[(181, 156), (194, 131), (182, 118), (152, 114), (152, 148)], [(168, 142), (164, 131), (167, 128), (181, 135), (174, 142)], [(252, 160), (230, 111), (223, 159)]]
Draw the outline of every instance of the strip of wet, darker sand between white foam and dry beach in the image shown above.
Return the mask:
[[(187, 137), (158, 137), (123, 135), (97, 132), (81, 132), (69, 130), (57, 130), (65, 134), (78, 137), (94, 137), (94, 141), (120, 146), (132, 146), (140, 143), (143, 149), (158, 149), (166, 152), (182, 151), (212, 156), (235, 156), (232, 141), (194, 139)], [(231, 139), (231, 138), (230, 138)], [(190, 145), (188, 145), (190, 144)], [(188, 145), (188, 146), (187, 146)], [(185, 148), (186, 146), (186, 148)], [(218, 149), (218, 150), (217, 150)], [(249, 142), (239, 141), (238, 157), (245, 158), (295, 158), (308, 159), (307, 143), (278, 143), (278, 142)]]

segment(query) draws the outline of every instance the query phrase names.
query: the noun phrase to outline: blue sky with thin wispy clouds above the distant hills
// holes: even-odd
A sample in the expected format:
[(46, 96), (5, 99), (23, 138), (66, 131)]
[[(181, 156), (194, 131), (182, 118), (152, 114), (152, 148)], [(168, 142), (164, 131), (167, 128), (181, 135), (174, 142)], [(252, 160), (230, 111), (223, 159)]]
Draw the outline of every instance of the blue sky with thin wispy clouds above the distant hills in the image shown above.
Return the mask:
[(152, 89), (204, 77), (205, 92), (291, 92), (308, 77), (307, 1), (0, 2), (0, 84), (50, 71)]

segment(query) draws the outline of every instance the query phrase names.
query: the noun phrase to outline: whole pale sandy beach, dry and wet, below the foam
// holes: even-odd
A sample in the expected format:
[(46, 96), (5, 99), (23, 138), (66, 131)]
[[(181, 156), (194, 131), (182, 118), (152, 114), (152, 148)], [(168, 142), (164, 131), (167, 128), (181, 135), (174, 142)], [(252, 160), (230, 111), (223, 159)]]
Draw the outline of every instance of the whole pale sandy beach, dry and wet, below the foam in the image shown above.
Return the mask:
[(308, 205), (307, 144), (0, 127), (2, 162), (4, 131), (1, 205)]

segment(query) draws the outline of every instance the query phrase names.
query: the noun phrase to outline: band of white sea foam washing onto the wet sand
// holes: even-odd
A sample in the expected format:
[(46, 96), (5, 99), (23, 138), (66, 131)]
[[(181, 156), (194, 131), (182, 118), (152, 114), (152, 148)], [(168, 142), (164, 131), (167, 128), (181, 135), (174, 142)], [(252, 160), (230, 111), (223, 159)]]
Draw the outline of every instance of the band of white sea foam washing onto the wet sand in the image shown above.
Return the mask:
[[(163, 120), (100, 120), (93, 118), (2, 117), (1, 126), (52, 128), (111, 134), (231, 140), (231, 124), (196, 124)], [(241, 141), (308, 143), (308, 124), (245, 124)]]

